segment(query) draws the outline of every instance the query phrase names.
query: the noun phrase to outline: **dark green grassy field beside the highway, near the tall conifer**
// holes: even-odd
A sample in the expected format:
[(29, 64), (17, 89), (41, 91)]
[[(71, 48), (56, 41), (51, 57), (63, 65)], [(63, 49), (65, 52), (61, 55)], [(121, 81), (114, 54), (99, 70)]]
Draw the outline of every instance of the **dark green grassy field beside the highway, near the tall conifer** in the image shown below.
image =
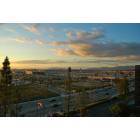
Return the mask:
[(7, 91), (1, 90), (0, 92), (0, 98), (7, 92), (5, 94), (7, 100), (17, 103), (58, 96), (56, 93), (49, 92), (45, 85), (11, 86), (8, 87)]

